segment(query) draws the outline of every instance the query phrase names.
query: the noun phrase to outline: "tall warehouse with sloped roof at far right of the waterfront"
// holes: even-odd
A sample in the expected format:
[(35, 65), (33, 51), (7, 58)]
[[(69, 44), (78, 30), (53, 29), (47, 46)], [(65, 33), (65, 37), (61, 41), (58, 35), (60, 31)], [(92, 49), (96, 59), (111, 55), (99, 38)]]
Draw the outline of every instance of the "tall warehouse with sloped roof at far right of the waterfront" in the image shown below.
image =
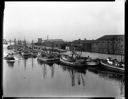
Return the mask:
[(92, 43), (92, 52), (124, 54), (124, 35), (104, 35)]

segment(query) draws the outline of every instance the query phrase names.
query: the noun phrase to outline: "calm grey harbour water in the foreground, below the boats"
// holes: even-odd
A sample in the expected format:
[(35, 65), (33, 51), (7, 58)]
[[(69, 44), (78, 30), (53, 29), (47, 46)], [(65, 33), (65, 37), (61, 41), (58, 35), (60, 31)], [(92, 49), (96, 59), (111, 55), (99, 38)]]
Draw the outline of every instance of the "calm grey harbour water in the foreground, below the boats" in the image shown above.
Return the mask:
[[(4, 56), (7, 54), (4, 47)], [(124, 76), (87, 68), (40, 64), (36, 58), (15, 55), (14, 64), (3, 60), (4, 96), (122, 96)]]

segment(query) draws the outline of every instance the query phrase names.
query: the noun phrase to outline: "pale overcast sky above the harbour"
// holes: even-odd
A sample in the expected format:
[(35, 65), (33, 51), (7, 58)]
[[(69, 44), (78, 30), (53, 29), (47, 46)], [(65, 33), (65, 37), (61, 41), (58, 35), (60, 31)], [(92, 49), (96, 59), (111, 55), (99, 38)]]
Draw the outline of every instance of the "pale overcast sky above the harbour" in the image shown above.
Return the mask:
[(5, 2), (3, 38), (72, 41), (122, 35), (125, 2), (119, 1)]

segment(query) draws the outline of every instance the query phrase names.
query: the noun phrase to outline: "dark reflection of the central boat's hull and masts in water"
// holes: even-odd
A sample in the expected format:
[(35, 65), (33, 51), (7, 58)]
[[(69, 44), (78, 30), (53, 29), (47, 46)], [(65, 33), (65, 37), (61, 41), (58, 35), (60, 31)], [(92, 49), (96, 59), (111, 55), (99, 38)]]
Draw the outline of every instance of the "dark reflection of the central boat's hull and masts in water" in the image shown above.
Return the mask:
[(76, 84), (85, 87), (85, 75), (87, 68), (78, 69), (78, 68), (68, 67), (65, 65), (60, 65), (60, 67), (63, 69), (63, 71), (69, 72), (72, 87), (75, 86)]

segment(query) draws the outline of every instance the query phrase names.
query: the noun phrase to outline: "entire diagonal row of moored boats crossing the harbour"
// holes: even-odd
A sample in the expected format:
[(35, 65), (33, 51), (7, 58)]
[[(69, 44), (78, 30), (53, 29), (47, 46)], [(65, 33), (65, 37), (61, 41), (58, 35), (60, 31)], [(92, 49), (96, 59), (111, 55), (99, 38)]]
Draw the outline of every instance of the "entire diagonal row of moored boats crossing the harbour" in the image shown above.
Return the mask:
[[(37, 52), (37, 51), (28, 51), (28, 50), (17, 50), (15, 53), (22, 55), (24, 58), (29, 57), (37, 57), (38, 61), (41, 62), (47, 62), (47, 63), (60, 63), (65, 66), (70, 66), (73, 68), (86, 68), (87, 66), (93, 66), (93, 67), (100, 67), (105, 68), (109, 70), (124, 72), (125, 71), (125, 64), (122, 62), (117, 61), (116, 59), (92, 59), (90, 57), (80, 57), (69, 54), (62, 54), (62, 53), (56, 53), (56, 52)], [(5, 59), (8, 62), (14, 62), (14, 54), (8, 54)]]

